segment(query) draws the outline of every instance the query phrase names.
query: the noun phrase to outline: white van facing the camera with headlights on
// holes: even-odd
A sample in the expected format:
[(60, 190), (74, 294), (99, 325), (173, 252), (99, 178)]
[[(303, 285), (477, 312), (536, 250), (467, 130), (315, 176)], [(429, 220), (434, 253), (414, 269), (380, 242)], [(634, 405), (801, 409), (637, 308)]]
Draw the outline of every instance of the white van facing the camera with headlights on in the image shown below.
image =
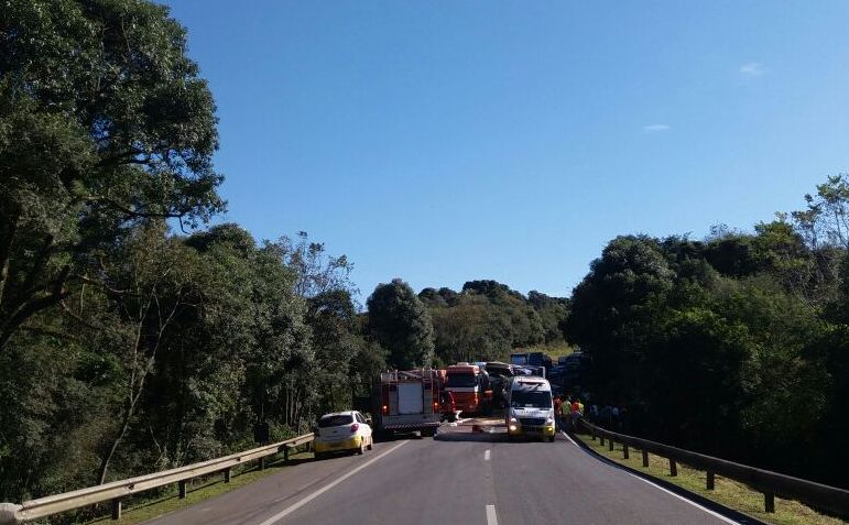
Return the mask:
[(507, 405), (507, 429), (511, 440), (518, 436), (535, 436), (554, 442), (554, 400), (548, 381), (532, 375), (513, 378)]

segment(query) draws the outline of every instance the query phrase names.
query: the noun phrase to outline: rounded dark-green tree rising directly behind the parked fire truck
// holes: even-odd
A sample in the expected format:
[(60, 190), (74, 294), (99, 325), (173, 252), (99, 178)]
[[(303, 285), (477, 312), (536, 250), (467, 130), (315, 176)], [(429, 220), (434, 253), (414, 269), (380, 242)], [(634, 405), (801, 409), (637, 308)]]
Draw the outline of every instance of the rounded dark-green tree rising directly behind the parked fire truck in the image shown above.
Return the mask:
[(427, 367), (434, 356), (434, 328), (425, 306), (400, 278), (379, 284), (367, 300), (369, 332), (389, 351), (398, 369)]

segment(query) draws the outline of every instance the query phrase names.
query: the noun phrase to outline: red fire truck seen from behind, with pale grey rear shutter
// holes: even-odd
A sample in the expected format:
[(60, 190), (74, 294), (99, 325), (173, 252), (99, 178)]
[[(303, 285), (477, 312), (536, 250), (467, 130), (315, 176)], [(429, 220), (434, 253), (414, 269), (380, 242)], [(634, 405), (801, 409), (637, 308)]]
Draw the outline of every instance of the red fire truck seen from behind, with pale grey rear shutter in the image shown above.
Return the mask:
[(439, 426), (439, 371), (382, 372), (372, 389), (372, 419), (378, 434), (418, 431), (434, 436)]

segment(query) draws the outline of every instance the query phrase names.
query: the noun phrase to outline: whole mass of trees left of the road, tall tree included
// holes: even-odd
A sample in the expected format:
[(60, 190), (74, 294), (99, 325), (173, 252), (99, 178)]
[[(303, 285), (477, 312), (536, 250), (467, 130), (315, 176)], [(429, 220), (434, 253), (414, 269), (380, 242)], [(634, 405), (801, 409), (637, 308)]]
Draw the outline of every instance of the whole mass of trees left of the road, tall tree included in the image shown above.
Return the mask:
[(0, 9), (0, 501), (304, 430), (384, 367), (345, 256), (195, 229), (224, 201), (185, 51), (146, 1)]

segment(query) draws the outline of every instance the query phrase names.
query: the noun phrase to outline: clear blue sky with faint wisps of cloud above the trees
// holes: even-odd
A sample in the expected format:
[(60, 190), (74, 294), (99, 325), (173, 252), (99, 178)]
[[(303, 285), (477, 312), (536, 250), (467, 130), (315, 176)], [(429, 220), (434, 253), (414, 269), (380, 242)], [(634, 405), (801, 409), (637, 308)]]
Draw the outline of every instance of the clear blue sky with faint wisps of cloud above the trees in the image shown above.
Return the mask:
[(849, 161), (845, 1), (166, 2), (228, 214), (368, 296), (568, 295), (622, 233), (749, 229)]

